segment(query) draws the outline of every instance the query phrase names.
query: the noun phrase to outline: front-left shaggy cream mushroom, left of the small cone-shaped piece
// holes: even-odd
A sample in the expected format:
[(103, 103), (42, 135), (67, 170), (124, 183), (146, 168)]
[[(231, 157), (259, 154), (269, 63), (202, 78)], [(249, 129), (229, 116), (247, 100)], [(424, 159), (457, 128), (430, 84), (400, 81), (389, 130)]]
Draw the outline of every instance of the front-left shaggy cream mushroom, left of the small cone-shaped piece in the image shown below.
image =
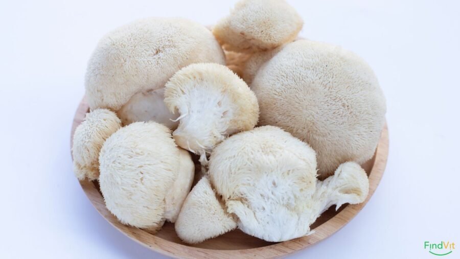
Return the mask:
[(121, 128), (104, 143), (99, 183), (105, 204), (123, 224), (157, 230), (174, 222), (190, 191), (194, 165), (155, 122)]

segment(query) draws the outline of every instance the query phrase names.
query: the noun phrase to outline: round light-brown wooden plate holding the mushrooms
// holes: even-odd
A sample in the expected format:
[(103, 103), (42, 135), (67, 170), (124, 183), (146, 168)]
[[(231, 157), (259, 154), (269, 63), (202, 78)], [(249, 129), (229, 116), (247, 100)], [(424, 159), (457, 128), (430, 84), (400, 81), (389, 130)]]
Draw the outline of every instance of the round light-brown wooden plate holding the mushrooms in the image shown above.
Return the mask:
[[(83, 98), (74, 117), (71, 139), (73, 138), (75, 128), (82, 123), (88, 110), (88, 104)], [(313, 234), (281, 243), (266, 242), (248, 236), (240, 230), (233, 230), (201, 244), (187, 245), (182, 243), (177, 237), (174, 231), (174, 224), (172, 223), (166, 223), (162, 230), (156, 234), (121, 224), (105, 207), (97, 181), (84, 180), (80, 181), (80, 184), (94, 207), (112, 226), (137, 243), (147, 246), (158, 253), (181, 258), (272, 258), (285, 256), (311, 246), (331, 236), (350, 222), (377, 189), (377, 185), (385, 170), (387, 156), (388, 128), (385, 124), (374, 157), (362, 165), (369, 175), (369, 196), (367, 196), (366, 200), (360, 204), (344, 204), (338, 211), (335, 211), (335, 206), (332, 206), (311, 226), (314, 229)]]

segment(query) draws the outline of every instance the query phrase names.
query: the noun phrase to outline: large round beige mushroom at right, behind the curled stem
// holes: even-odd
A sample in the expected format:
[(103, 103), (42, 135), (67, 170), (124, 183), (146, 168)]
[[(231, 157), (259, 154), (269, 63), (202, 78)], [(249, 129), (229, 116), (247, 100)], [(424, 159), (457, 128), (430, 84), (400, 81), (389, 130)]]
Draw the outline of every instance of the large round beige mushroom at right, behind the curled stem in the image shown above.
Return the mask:
[(259, 69), (251, 89), (260, 125), (279, 126), (308, 143), (322, 177), (343, 162), (363, 163), (374, 155), (385, 98), (372, 69), (356, 54), (298, 40)]

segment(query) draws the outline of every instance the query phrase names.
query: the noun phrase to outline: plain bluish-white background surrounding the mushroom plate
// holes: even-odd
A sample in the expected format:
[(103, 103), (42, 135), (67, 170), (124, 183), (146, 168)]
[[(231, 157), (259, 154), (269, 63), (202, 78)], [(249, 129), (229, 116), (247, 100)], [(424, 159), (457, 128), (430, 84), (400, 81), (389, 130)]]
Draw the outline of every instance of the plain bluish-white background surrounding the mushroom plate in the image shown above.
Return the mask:
[[(106, 32), (137, 18), (205, 25), (234, 1), (9, 1), (0, 7), (0, 257), (160, 257), (112, 228), (72, 172), (70, 129), (86, 61)], [(301, 35), (342, 45), (374, 68), (387, 98), (383, 179), (356, 218), (297, 258), (434, 258), (457, 242), (458, 1), (288, 1)]]

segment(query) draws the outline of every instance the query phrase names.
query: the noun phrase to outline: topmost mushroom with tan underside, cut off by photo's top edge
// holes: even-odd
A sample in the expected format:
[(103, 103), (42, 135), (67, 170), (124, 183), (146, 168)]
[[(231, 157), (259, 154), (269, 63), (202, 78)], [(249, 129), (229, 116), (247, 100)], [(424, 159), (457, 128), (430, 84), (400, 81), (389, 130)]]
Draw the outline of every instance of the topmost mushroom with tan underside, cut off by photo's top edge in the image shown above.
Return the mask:
[(242, 0), (213, 33), (225, 50), (258, 52), (294, 40), (302, 26), (300, 15), (284, 0)]

